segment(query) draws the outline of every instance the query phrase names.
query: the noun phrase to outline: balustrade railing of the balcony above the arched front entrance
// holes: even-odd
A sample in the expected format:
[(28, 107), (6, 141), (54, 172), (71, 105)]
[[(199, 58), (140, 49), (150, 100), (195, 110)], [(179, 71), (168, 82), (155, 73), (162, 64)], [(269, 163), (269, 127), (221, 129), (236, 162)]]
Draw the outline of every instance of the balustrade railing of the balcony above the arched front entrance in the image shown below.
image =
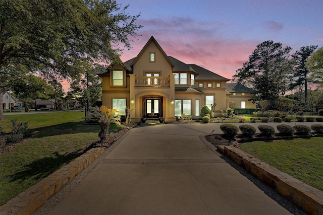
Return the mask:
[(170, 87), (170, 77), (135, 77), (135, 87)]

